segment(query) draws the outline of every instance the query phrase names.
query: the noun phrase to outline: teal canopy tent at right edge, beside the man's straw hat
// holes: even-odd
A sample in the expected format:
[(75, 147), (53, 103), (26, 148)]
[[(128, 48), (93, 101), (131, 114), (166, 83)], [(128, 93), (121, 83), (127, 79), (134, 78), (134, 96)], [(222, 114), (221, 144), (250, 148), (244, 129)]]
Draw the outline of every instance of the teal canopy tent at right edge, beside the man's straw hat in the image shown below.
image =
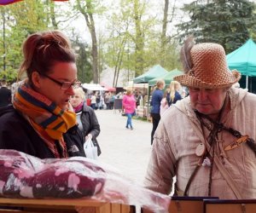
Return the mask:
[[(227, 55), (230, 70), (238, 70), (246, 78), (248, 88), (248, 77), (256, 77), (256, 44), (250, 38), (240, 48)], [(251, 78), (252, 79), (252, 78)], [(252, 87), (252, 83), (251, 83)], [(252, 89), (251, 89), (252, 90)]]

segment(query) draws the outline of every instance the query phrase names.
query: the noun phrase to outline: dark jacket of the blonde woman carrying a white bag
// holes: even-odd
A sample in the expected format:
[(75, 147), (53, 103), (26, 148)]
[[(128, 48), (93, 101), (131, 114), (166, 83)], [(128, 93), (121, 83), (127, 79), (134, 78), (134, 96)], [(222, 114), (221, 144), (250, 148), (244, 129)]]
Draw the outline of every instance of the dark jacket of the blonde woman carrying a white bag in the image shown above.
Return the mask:
[(83, 125), (83, 135), (84, 137), (89, 133), (92, 135), (92, 141), (95, 146), (98, 147), (98, 155), (100, 155), (101, 148), (96, 140), (96, 137), (100, 134), (100, 124), (98, 123), (98, 119), (96, 118), (96, 114), (91, 107), (88, 107), (84, 104), (83, 112), (81, 113), (81, 123)]

